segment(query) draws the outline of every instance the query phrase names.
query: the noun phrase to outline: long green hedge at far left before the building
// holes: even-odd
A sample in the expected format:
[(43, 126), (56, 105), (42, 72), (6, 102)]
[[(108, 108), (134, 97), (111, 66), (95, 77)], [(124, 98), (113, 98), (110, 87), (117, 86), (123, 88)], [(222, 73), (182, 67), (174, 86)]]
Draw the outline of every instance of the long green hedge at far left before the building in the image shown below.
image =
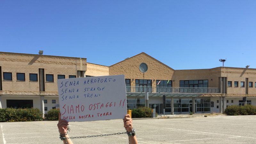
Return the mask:
[(42, 121), (38, 108), (0, 108), (0, 122)]

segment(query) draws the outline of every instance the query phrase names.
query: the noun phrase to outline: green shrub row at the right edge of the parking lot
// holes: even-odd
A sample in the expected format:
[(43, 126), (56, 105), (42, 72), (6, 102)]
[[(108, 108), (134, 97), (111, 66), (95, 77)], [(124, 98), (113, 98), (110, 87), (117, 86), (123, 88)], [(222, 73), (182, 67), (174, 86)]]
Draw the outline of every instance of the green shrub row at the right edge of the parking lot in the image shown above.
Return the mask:
[(245, 105), (245, 106), (228, 106), (225, 109), (225, 114), (231, 116), (238, 115), (256, 115), (256, 106)]

